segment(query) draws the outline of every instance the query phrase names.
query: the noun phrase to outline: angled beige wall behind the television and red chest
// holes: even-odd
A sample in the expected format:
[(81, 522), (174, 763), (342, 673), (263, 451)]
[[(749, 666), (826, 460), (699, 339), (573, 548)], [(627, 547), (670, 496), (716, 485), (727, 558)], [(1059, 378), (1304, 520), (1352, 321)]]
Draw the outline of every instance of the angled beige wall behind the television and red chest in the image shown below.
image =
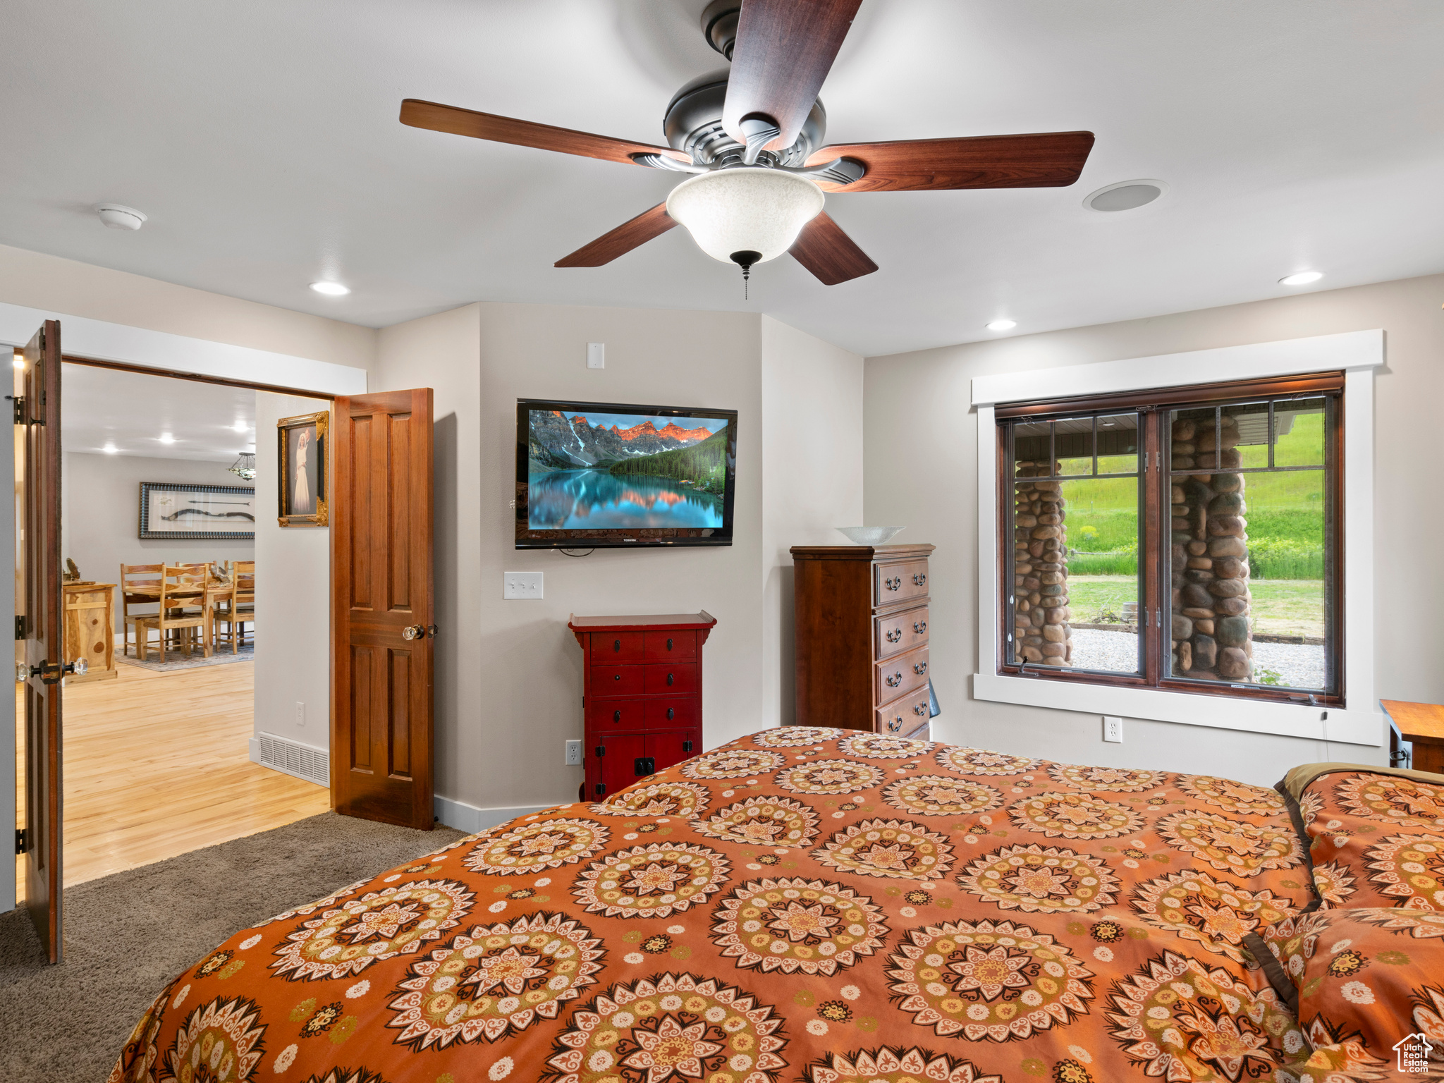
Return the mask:
[[(586, 368), (588, 342), (606, 344), (605, 370)], [(456, 803), (492, 810), (576, 800), (582, 773), (563, 764), (563, 741), (582, 735), (582, 657), (566, 628), (570, 614), (706, 609), (718, 627), (705, 647), (705, 744), (777, 722), (780, 611), (768, 609), (764, 619), (765, 606), (781, 604), (775, 554), (826, 540), (826, 527), (861, 511), (859, 365), (749, 313), (482, 303), (381, 332), (373, 388), (436, 390), (436, 791), (443, 813), (456, 812)], [(797, 416), (816, 406), (807, 393), (813, 380), (830, 388), (825, 399), (838, 407), (836, 427)], [(518, 397), (738, 410), (734, 544), (599, 549), (585, 557), (516, 550), (510, 501)], [(807, 439), (800, 430), (773, 440), (771, 426), (799, 422), (819, 446), (801, 468), (768, 471), (768, 443), (788, 453)], [(784, 521), (764, 554), (768, 501)], [(507, 570), (543, 572), (544, 599), (503, 601)], [(790, 593), (787, 601), (790, 608)]]

